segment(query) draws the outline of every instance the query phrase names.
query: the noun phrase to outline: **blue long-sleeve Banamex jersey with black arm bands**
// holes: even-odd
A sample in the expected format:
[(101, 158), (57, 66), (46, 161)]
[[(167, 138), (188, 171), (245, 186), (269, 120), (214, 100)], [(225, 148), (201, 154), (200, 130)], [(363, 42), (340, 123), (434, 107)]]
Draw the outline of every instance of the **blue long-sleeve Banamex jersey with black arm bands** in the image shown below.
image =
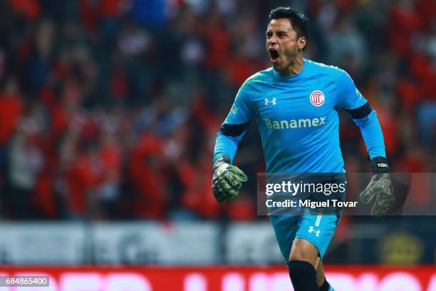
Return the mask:
[(304, 59), (293, 76), (273, 68), (248, 78), (217, 133), (214, 160), (233, 161), (249, 123), (259, 127), (268, 173), (342, 173), (338, 112), (360, 127), (370, 158), (385, 157), (375, 111), (346, 71)]

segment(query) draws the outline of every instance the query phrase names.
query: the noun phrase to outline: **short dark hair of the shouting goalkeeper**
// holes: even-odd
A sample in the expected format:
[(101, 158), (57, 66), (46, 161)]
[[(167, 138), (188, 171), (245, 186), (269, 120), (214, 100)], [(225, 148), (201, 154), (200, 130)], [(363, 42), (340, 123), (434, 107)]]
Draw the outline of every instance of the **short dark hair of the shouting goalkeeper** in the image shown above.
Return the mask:
[(303, 12), (291, 7), (277, 7), (269, 13), (269, 21), (273, 19), (289, 19), (297, 37), (305, 36), (308, 40), (309, 21)]

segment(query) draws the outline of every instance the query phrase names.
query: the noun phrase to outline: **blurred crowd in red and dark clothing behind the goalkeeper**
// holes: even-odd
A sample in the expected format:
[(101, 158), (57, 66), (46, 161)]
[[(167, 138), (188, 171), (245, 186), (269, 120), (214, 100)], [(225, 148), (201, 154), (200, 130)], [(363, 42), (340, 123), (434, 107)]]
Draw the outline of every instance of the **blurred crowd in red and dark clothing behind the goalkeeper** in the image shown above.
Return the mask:
[[(256, 125), (211, 190), (214, 138), (235, 93), (269, 66), (269, 11), (311, 19), (305, 57), (339, 66), (378, 113), (395, 171), (436, 170), (433, 0), (0, 2), (0, 208), (5, 219), (256, 219)], [(370, 169), (341, 116), (346, 170)]]

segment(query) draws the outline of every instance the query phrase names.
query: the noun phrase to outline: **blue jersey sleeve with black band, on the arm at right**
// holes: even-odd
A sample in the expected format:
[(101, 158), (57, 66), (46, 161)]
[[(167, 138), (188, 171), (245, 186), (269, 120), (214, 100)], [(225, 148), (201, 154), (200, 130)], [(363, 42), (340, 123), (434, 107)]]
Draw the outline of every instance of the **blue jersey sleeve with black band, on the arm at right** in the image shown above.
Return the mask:
[(386, 158), (385, 141), (377, 113), (355, 87), (353, 80), (346, 71), (341, 74), (338, 86), (340, 88), (338, 107), (344, 109), (360, 128), (368, 155), (371, 159), (376, 157)]

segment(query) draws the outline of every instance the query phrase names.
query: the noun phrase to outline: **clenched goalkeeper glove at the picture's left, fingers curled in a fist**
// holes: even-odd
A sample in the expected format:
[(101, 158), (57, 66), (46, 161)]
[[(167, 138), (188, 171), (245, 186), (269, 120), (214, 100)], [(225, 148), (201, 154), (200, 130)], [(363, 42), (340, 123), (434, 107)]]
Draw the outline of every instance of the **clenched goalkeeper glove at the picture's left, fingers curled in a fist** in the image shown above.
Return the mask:
[(237, 197), (239, 188), (248, 178), (237, 166), (230, 163), (228, 155), (217, 158), (214, 163), (212, 190), (219, 203), (227, 202)]

